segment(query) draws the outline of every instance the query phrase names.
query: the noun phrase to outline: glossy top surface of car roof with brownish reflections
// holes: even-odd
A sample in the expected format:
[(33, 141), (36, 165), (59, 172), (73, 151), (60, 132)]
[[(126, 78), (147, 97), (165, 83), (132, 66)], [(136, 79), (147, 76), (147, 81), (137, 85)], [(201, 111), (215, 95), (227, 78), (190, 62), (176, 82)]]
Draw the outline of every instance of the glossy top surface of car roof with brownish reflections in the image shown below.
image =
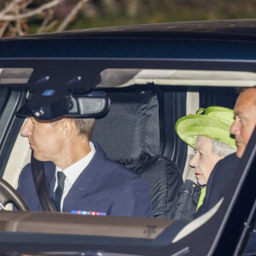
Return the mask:
[(112, 26), (67, 32), (36, 34), (16, 39), (54, 38), (230, 38), (255, 39), (256, 19), (250, 20), (207, 20), (143, 24), (133, 26)]

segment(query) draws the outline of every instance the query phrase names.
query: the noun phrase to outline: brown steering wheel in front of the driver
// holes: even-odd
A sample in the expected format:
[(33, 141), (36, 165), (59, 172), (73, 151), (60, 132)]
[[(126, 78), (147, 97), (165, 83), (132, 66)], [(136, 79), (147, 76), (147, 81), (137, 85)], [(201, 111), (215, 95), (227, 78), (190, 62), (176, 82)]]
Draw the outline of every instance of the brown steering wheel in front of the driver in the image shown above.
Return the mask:
[(2, 177), (0, 177), (0, 202), (3, 207), (13, 203), (20, 211), (30, 211), (20, 194)]

